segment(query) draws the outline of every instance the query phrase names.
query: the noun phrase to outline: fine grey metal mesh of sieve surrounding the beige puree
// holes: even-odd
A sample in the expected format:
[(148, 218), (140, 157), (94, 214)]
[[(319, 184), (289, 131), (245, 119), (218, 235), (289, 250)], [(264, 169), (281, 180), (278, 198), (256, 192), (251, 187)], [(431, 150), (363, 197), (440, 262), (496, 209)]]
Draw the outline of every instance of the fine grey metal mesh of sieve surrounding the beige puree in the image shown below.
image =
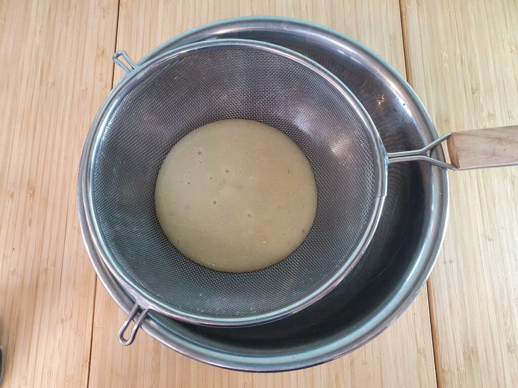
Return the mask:
[[(137, 290), (195, 315), (263, 314), (318, 289), (349, 259), (376, 199), (372, 141), (348, 102), (311, 68), (253, 48), (214, 47), (157, 67), (118, 102), (97, 140), (93, 205), (110, 259)], [(305, 241), (281, 262), (240, 274), (185, 258), (154, 210), (156, 176), (171, 147), (195, 128), (231, 118), (289, 136), (318, 188)]]

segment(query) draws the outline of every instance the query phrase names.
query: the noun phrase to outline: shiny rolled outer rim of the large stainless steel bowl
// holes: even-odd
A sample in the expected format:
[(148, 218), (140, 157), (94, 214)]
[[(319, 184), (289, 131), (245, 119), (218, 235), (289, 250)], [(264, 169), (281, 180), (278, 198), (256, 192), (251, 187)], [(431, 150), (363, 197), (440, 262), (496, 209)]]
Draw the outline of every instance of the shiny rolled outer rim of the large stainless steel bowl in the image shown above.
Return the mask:
[[(239, 25), (241, 22), (275, 22), (275, 21), (286, 21), (294, 26), (304, 26), (305, 28), (310, 28), (313, 32), (317, 34), (324, 34), (328, 39), (336, 39), (338, 41), (346, 41), (357, 48), (361, 49), (364, 52), (364, 55), (370, 57), (370, 59), (379, 62), (378, 70), (380, 72), (386, 72), (387, 75), (393, 78), (394, 83), (400, 83), (400, 87), (402, 89), (402, 94), (407, 94), (410, 99), (412, 99), (416, 105), (416, 108), (419, 109), (421, 114), (421, 120), (424, 121), (426, 127), (430, 128), (431, 131), (435, 133), (435, 138), (437, 138), (437, 132), (435, 131), (435, 126), (431, 122), (429, 115), (426, 113), (426, 110), (421, 102), (421, 100), (416, 96), (413, 89), (408, 85), (408, 83), (400, 76), (399, 73), (387, 62), (384, 61), (378, 54), (371, 51), (363, 44), (355, 41), (354, 39), (338, 33), (330, 28), (320, 26), (315, 23), (299, 21), (297, 19), (286, 19), (286, 18), (264, 18), (264, 17), (249, 17), (249, 18), (235, 18), (235, 19), (227, 19), (220, 22), (215, 22), (207, 25), (203, 25), (197, 27), (189, 32), (181, 34), (175, 38), (172, 38), (161, 46), (153, 50), (151, 53), (146, 55), (144, 58), (152, 57), (153, 53), (160, 53), (161, 49), (174, 47), (175, 44), (181, 41), (186, 37), (189, 37), (196, 34), (205, 34), (207, 37), (210, 35), (210, 27), (219, 27), (226, 25), (227, 28), (230, 27), (229, 24), (234, 23)], [(338, 43), (343, 44), (343, 43)], [(139, 61), (138, 63), (141, 63)], [(425, 142), (431, 142), (434, 139), (431, 137), (431, 134), (423, 133), (423, 137)], [(435, 150), (436, 157), (444, 160), (444, 155), (442, 150)], [(83, 150), (84, 154), (84, 150)], [(81, 158), (83, 159), (83, 157)], [(373, 338), (380, 335), (383, 331), (385, 331), (412, 303), (415, 297), (419, 294), (421, 289), (423, 288), (426, 279), (429, 277), (435, 262), (437, 260), (437, 256), (444, 240), (445, 230), (446, 230), (446, 221), (448, 219), (449, 214), (449, 182), (448, 175), (444, 173), (444, 171), (432, 171), (432, 181), (438, 187), (433, 187), (434, 190), (437, 190), (438, 193), (433, 196), (435, 201), (432, 206), (435, 212), (438, 214), (437, 217), (434, 218), (434, 222), (431, 224), (430, 230), (430, 238), (426, 240), (426, 243), (421, 247), (421, 250), (418, 252), (419, 260), (427, 259), (425, 270), (421, 273), (421, 276), (415, 279), (413, 282), (413, 286), (410, 287), (409, 292), (403, 293), (401, 290), (394, 295), (394, 299), (397, 299), (397, 303), (394, 308), (389, 309), (388, 307), (383, 308), (376, 315), (377, 317), (381, 317), (384, 321), (383, 325), (379, 325), (377, 327), (367, 327), (365, 331), (363, 340), (361, 342), (357, 342), (354, 346), (348, 346), (347, 344), (343, 344), (343, 342), (337, 341), (333, 348), (329, 348), (324, 355), (319, 356), (318, 358), (314, 358), (313, 356), (307, 354), (296, 354), (293, 356), (287, 357), (269, 357), (263, 359), (257, 359), (257, 357), (238, 357), (236, 360), (236, 356), (231, 357), (227, 354), (221, 352), (214, 352), (210, 349), (200, 350), (198, 344), (193, 344), (191, 341), (178, 336), (172, 335), (163, 330), (163, 327), (157, 323), (156, 321), (148, 318), (143, 320), (142, 322), (142, 330), (151, 335), (157, 341), (161, 342), (161, 344), (167, 346), (168, 348), (175, 350), (185, 356), (191, 357), (194, 360), (203, 362), (205, 364), (218, 366), (226, 369), (232, 370), (240, 370), (240, 371), (251, 371), (251, 372), (273, 372), (273, 371), (288, 371), (301, 369), (306, 367), (311, 367), (319, 364), (326, 363), (328, 361), (332, 361), (337, 359), (338, 357), (350, 353), (357, 348), (365, 345), (367, 342), (372, 340)], [(80, 173), (81, 175), (81, 173)], [(78, 185), (78, 213), (79, 213), (79, 221), (81, 224), (81, 232), (83, 234), (83, 240), (85, 243), (85, 247), (89, 253), (90, 259), (92, 261), (92, 265), (94, 269), (103, 283), (104, 287), (112, 297), (112, 299), (120, 306), (120, 308), (124, 312), (129, 312), (131, 307), (134, 305), (135, 300), (127, 294), (122, 288), (121, 285), (110, 276), (110, 273), (107, 271), (104, 263), (99, 260), (95, 248), (92, 244), (85, 238), (85, 231), (83, 229), (83, 225), (85, 223), (85, 215), (84, 209), (82, 207), (82, 193), (80, 189), (80, 185)], [(434, 242), (433, 244), (430, 243)], [(412, 268), (413, 272), (413, 268)], [(359, 333), (361, 335), (362, 333)], [(309, 352), (308, 352), (309, 353)], [(280, 365), (276, 367), (272, 367), (271, 365)]]

